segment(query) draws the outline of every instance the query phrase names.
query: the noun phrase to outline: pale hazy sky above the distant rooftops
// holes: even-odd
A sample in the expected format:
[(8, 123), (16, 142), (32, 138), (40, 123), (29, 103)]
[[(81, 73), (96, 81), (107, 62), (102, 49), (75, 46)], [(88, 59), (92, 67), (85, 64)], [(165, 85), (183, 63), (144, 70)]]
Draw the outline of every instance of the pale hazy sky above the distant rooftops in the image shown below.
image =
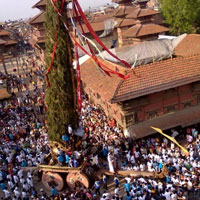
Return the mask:
[[(16, 19), (27, 19), (33, 17), (39, 11), (32, 6), (39, 0), (0, 0), (0, 22)], [(79, 0), (83, 9), (90, 7), (98, 7), (111, 0)]]

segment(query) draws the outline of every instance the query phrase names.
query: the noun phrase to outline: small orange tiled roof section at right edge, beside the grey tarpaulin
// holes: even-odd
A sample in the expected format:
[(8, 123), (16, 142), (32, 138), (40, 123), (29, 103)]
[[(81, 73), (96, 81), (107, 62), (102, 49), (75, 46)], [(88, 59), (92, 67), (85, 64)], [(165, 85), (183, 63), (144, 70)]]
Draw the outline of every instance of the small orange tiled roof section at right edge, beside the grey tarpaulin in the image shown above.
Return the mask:
[(200, 54), (200, 34), (187, 35), (175, 48), (176, 56), (191, 56)]

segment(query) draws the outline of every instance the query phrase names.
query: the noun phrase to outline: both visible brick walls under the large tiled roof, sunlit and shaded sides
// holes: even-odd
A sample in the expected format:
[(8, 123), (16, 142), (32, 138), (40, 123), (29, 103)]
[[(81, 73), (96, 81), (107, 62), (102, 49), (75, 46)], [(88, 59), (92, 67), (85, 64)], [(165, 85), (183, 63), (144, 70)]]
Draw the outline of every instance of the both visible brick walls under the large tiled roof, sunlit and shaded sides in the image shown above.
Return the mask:
[[(84, 84), (83, 84), (84, 85)], [(102, 107), (124, 129), (156, 117), (200, 104), (200, 82), (142, 96), (119, 104), (111, 104), (101, 95), (84, 87), (92, 103)]]

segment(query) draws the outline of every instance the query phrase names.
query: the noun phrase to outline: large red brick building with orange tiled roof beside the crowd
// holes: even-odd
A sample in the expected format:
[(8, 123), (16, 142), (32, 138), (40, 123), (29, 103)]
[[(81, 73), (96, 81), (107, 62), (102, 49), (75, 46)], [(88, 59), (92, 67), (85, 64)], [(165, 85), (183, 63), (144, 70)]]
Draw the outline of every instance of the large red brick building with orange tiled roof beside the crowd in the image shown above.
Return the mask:
[[(199, 35), (188, 35), (176, 47), (174, 58), (134, 69), (103, 61), (130, 78), (104, 76), (89, 59), (81, 65), (83, 88), (91, 101), (99, 104), (132, 138), (200, 122)], [(190, 49), (190, 50), (189, 50)], [(197, 55), (195, 55), (197, 54)]]

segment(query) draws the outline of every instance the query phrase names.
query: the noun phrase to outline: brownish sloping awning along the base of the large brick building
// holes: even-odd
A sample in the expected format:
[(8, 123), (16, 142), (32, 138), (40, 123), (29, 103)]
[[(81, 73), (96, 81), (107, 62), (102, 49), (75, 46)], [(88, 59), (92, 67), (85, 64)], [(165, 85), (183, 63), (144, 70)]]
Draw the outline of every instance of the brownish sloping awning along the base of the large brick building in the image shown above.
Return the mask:
[(138, 139), (155, 133), (150, 126), (167, 130), (176, 126), (186, 127), (197, 123), (200, 123), (200, 105), (129, 126), (126, 131), (130, 137)]

